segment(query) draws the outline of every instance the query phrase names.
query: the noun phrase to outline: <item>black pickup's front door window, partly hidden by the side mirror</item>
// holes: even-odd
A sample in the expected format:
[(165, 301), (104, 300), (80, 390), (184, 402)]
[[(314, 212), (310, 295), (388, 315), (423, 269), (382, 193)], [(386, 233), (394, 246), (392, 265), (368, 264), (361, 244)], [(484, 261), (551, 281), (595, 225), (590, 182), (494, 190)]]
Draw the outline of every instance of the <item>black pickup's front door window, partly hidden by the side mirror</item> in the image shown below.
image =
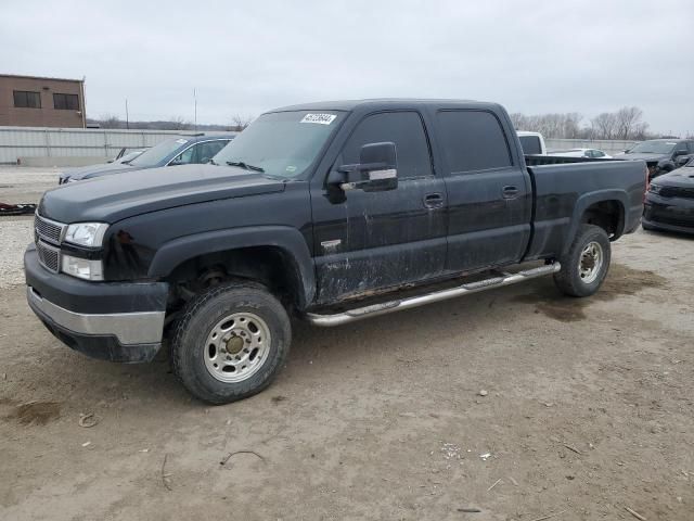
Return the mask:
[(426, 135), (416, 112), (386, 112), (362, 119), (337, 161), (345, 165), (359, 163), (359, 153), (364, 144), (384, 141), (395, 143), (399, 179), (433, 175)]

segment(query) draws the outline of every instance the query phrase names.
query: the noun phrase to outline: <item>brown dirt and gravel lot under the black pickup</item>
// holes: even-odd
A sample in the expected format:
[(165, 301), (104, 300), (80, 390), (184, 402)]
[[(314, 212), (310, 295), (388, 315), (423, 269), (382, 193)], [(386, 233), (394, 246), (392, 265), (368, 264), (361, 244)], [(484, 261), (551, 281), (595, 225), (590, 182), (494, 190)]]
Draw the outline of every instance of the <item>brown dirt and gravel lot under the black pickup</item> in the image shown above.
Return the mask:
[[(1, 257), (27, 223), (0, 223)], [(73, 353), (4, 266), (0, 519), (692, 520), (692, 259), (693, 239), (640, 231), (589, 300), (538, 279), (297, 323), (278, 381), (223, 407), (166, 356)]]

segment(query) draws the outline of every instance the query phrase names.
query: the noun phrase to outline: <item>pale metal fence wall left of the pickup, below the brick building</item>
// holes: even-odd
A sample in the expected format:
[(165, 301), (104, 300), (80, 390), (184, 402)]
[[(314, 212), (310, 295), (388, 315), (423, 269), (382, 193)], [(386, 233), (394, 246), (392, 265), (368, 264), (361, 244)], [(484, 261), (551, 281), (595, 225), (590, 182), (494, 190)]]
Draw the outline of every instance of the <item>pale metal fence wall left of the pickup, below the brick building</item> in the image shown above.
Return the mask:
[[(124, 148), (154, 147), (191, 130), (110, 130), (103, 128), (0, 127), (0, 163), (20, 157), (114, 157)], [(208, 132), (233, 134), (233, 132)]]

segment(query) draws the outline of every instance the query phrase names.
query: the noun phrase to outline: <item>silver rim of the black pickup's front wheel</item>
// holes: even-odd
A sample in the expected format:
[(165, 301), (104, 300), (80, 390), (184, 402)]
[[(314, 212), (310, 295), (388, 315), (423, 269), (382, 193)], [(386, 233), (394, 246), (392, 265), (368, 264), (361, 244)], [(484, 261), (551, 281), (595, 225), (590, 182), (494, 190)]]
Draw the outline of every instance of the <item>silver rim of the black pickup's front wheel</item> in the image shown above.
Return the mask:
[(220, 382), (243, 382), (262, 367), (271, 341), (270, 328), (257, 315), (228, 315), (207, 335), (205, 367)]

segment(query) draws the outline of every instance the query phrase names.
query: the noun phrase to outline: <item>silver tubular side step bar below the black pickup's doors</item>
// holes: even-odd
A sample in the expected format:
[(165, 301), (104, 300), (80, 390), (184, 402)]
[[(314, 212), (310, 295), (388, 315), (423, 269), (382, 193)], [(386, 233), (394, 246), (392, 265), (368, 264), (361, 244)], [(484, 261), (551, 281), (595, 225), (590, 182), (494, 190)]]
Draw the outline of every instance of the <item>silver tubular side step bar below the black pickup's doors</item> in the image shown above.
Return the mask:
[(515, 284), (516, 282), (523, 282), (537, 277), (555, 274), (560, 269), (562, 269), (562, 265), (560, 263), (554, 263), (548, 266), (540, 266), (538, 268), (518, 271), (517, 274), (503, 274), (501, 277), (492, 277), (490, 279), (462, 284), (449, 290), (435, 291), (426, 295), (411, 296), (399, 301), (389, 301), (381, 304), (373, 304), (371, 306), (358, 307), (335, 315), (317, 315), (314, 313), (308, 313), (306, 314), (306, 319), (313, 326), (326, 328), (342, 326), (343, 323), (354, 322), (356, 320), (370, 317), (377, 317), (378, 315), (399, 312), (401, 309), (410, 309), (412, 307), (423, 306), (424, 304), (430, 304), (433, 302), (446, 301), (457, 296), (468, 295), (471, 293), (491, 290), (493, 288), (501, 288), (502, 285)]

